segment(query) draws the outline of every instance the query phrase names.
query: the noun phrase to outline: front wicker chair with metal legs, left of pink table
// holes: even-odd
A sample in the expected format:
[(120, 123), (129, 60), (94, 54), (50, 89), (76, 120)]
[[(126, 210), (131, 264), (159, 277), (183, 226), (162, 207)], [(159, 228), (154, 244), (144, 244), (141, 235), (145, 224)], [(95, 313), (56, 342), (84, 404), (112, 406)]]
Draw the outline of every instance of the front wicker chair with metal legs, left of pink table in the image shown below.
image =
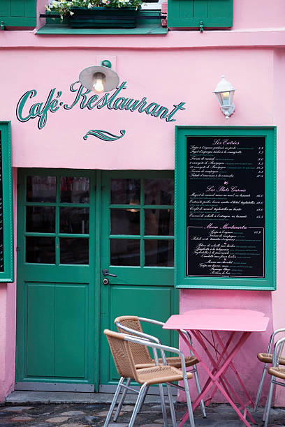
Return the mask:
[[(141, 338), (137, 338), (135, 336), (130, 336), (126, 334), (120, 334), (118, 332), (109, 331), (108, 329), (105, 329), (104, 334), (107, 336), (108, 343), (110, 345), (110, 350), (112, 352), (112, 357), (115, 362), (115, 366), (117, 368), (117, 372), (120, 375), (119, 384), (117, 386), (117, 390), (115, 391), (115, 396), (112, 400), (110, 410), (108, 412), (107, 418), (105, 420), (104, 427), (107, 427), (110, 423), (110, 419), (112, 417), (112, 412), (115, 408), (115, 405), (117, 403), (117, 399), (119, 397), (119, 393), (122, 390), (132, 390), (135, 393), (138, 393), (138, 399), (136, 400), (136, 405), (133, 410), (133, 414), (131, 415), (131, 420), (129, 422), (129, 427), (133, 427), (133, 424), (136, 419), (136, 415), (138, 414), (138, 410), (140, 408), (140, 403), (145, 397), (145, 394), (147, 392), (147, 387), (151, 384), (159, 384), (159, 391), (161, 395), (161, 407), (162, 407), (162, 413), (163, 413), (163, 424), (165, 427), (168, 426), (167, 421), (167, 415), (166, 415), (166, 406), (164, 403), (164, 396), (163, 396), (163, 387), (162, 384), (167, 384), (168, 387), (168, 396), (169, 396), (169, 403), (170, 403), (170, 412), (171, 412), (171, 418), (173, 421), (173, 427), (176, 427), (176, 420), (175, 420), (175, 410), (173, 405), (173, 398), (171, 395), (171, 387), (172, 383), (174, 381), (184, 381), (184, 387), (187, 397), (187, 407), (189, 411), (189, 421), (190, 426), (195, 427), (194, 419), (193, 419), (193, 412), (192, 412), (192, 405), (191, 405), (191, 398), (189, 394), (189, 386), (188, 386), (188, 380), (193, 377), (191, 373), (187, 373), (186, 367), (185, 367), (185, 361), (184, 361), (184, 355), (180, 350), (177, 350), (173, 347), (168, 347), (166, 345), (160, 345), (156, 343), (150, 343), (147, 340), (142, 340)], [(136, 364), (133, 357), (133, 349), (131, 349), (131, 344), (135, 343), (137, 348), (140, 351), (140, 347), (152, 347), (152, 350), (154, 352), (154, 360), (155, 365), (150, 366), (148, 368), (142, 368), (138, 369), (136, 368)], [(182, 371), (174, 368), (173, 366), (161, 366), (159, 365), (159, 357), (157, 354), (157, 350), (160, 350), (162, 352), (175, 352), (179, 355), (181, 358), (181, 365), (182, 365)], [(124, 381), (126, 380), (126, 384), (124, 384)], [(136, 389), (132, 389), (129, 387), (129, 383), (131, 380), (134, 380), (138, 382), (138, 384), (141, 384), (140, 391), (137, 391)]]

